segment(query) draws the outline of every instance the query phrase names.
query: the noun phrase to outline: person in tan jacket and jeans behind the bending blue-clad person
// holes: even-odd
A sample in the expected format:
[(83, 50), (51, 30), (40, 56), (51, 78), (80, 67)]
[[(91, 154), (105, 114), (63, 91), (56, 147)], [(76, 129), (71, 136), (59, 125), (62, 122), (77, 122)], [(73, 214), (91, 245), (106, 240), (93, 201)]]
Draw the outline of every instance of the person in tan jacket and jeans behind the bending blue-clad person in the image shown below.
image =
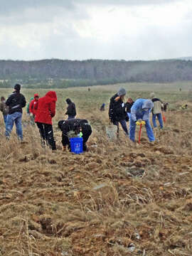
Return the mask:
[(151, 101), (154, 103), (154, 107), (152, 108), (152, 122), (154, 124), (154, 128), (156, 128), (156, 117), (159, 120), (160, 128), (163, 129), (164, 123), (161, 115), (161, 106), (163, 102), (159, 100), (159, 98), (155, 97), (154, 92), (151, 92)]

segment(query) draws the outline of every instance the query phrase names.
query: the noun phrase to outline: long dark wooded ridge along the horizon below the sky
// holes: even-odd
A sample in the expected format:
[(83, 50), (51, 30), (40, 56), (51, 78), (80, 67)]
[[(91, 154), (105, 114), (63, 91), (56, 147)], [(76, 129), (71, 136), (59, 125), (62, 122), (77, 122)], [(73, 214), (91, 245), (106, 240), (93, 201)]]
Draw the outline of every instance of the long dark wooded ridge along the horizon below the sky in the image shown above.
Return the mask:
[(66, 80), (70, 81), (70, 85), (74, 81), (84, 81), (86, 85), (187, 81), (192, 80), (192, 61), (0, 60), (0, 79), (21, 80), (26, 85), (52, 80), (57, 81), (59, 87), (64, 86)]

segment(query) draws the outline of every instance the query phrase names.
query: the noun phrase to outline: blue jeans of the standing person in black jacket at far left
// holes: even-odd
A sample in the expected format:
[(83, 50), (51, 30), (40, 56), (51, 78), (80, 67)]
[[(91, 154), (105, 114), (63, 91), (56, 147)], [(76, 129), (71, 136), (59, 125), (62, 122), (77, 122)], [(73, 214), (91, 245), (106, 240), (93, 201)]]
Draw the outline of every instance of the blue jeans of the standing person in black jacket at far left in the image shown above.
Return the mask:
[(14, 122), (16, 124), (16, 134), (18, 139), (23, 139), (23, 130), (22, 130), (22, 113), (14, 112), (13, 114), (8, 114), (6, 118), (6, 137), (9, 138), (11, 131), (14, 127)]

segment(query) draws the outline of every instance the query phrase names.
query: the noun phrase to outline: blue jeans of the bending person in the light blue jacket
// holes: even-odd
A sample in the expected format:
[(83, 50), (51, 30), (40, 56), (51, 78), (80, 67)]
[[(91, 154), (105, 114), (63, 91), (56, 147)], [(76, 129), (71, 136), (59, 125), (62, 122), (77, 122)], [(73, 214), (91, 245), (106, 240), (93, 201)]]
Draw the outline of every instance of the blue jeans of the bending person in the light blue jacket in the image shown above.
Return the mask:
[[(142, 117), (137, 117), (137, 120), (138, 119), (142, 119)], [(136, 124), (132, 118), (129, 119), (129, 123), (130, 123), (129, 124), (129, 139), (131, 139), (134, 142)], [(154, 142), (155, 141), (154, 132), (151, 128), (149, 119), (145, 121), (145, 128), (146, 128), (147, 137), (149, 138), (149, 142)]]

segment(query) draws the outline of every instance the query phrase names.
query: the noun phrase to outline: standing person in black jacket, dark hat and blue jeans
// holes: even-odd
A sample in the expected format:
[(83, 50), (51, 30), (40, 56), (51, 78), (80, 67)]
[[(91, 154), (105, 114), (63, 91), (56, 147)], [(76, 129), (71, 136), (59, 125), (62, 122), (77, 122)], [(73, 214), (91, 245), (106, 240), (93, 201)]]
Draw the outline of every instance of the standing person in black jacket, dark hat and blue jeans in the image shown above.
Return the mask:
[(6, 100), (6, 105), (9, 107), (9, 114), (6, 119), (6, 137), (9, 138), (11, 131), (16, 124), (16, 134), (18, 139), (23, 139), (22, 129), (22, 113), (23, 107), (26, 107), (26, 98), (20, 93), (21, 85), (14, 86), (14, 92)]

